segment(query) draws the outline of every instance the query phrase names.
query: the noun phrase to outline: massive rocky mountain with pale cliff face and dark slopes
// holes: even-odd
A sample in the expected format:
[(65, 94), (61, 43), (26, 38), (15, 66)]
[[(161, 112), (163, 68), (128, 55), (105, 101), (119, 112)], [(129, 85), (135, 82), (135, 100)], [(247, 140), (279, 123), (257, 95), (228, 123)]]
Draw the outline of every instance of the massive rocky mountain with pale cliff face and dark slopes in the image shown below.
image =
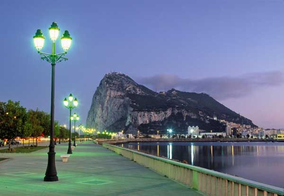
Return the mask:
[(188, 126), (220, 131), (224, 125), (213, 116), (230, 122), (255, 126), (251, 120), (220, 104), (205, 93), (171, 89), (156, 93), (137, 84), (125, 74), (109, 73), (93, 96), (86, 126), (136, 134), (166, 133), (167, 128), (186, 132)]

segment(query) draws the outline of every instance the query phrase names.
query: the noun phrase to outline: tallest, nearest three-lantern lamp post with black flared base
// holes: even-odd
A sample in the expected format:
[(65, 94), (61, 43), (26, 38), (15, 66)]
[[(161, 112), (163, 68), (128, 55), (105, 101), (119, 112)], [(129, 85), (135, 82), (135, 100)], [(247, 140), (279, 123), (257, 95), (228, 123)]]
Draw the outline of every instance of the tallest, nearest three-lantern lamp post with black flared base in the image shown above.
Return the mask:
[(51, 24), (51, 27), (49, 28), (49, 36), (52, 40), (52, 53), (44, 53), (41, 52), (41, 49), (44, 45), (45, 37), (43, 36), (43, 33), (40, 29), (36, 31), (36, 35), (33, 37), (34, 39), (34, 45), (37, 49), (37, 52), (39, 55), (41, 55), (42, 60), (46, 60), (47, 62), (51, 63), (51, 112), (50, 112), (50, 118), (51, 118), (51, 126), (50, 126), (50, 144), (49, 144), (49, 152), (48, 154), (48, 163), (47, 163), (47, 169), (45, 172), (44, 181), (51, 182), (51, 181), (58, 181), (56, 167), (55, 167), (55, 150), (54, 150), (54, 143), (53, 143), (53, 137), (54, 137), (54, 88), (55, 88), (55, 63), (66, 61), (68, 60), (66, 57), (63, 57), (66, 55), (68, 49), (70, 48), (72, 38), (70, 37), (70, 34), (68, 31), (65, 31), (63, 36), (61, 37), (61, 45), (64, 50), (63, 53), (55, 54), (55, 41), (57, 37), (59, 36), (59, 28), (57, 26), (56, 22), (53, 22)]

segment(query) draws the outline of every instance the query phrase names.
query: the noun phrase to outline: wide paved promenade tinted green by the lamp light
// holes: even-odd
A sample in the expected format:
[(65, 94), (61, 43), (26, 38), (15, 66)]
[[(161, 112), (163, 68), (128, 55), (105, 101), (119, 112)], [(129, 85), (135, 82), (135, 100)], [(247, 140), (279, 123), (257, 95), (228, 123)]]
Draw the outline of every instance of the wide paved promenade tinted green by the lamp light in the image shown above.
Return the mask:
[(1, 154), (2, 195), (201, 195), (97, 144), (79, 144), (63, 163), (67, 144), (55, 147), (58, 182), (43, 182), (47, 151)]

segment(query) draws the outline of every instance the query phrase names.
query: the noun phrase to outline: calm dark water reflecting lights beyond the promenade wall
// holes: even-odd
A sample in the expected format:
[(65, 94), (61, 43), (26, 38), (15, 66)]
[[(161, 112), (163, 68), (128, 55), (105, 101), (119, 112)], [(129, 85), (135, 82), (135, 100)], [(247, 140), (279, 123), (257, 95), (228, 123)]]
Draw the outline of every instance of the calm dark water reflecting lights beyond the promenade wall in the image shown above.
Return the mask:
[(282, 142), (143, 142), (119, 146), (284, 187)]

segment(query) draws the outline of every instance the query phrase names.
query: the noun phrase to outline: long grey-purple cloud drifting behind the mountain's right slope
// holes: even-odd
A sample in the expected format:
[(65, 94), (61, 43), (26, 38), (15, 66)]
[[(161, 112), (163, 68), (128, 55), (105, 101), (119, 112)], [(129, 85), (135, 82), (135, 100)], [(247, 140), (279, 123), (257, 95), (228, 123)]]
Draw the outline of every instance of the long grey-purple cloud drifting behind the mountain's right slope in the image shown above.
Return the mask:
[(224, 100), (243, 97), (260, 87), (279, 86), (284, 83), (284, 76), (282, 72), (273, 71), (250, 73), (237, 77), (224, 76), (194, 80), (172, 74), (161, 74), (139, 78), (138, 81), (157, 91), (175, 88), (189, 92), (204, 92), (216, 99)]

